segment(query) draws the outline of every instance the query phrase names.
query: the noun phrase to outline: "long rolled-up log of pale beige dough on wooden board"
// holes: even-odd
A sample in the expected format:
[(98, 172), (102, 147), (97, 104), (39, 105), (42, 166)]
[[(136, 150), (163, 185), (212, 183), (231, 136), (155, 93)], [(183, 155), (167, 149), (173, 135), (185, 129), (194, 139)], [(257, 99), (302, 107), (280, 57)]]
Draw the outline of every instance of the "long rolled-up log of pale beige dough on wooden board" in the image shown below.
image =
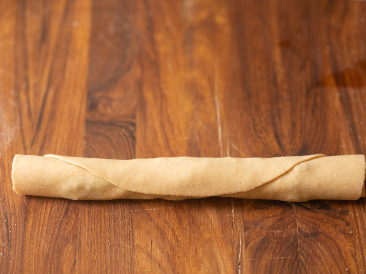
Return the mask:
[(364, 155), (112, 160), (16, 155), (13, 190), (72, 200), (208, 196), (302, 202), (365, 196)]

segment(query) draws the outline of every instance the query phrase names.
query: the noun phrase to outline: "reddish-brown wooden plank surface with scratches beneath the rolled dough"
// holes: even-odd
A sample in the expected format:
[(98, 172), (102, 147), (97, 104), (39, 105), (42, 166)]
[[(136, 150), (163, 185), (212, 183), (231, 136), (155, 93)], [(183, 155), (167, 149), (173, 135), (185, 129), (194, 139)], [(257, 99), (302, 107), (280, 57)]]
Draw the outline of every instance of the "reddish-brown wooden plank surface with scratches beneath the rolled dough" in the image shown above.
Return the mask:
[(70, 201), (20, 154), (366, 154), (366, 2), (0, 0), (1, 273), (365, 273), (366, 200)]

